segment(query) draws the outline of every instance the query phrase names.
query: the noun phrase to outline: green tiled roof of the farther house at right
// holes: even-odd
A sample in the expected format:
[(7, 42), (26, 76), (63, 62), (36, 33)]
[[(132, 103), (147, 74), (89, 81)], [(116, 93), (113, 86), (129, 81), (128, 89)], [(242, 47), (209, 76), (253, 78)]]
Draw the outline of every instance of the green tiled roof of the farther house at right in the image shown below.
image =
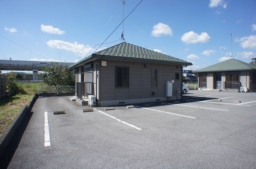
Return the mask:
[(223, 71), (241, 71), (241, 70), (256, 70), (256, 65), (248, 64), (236, 59), (229, 59), (215, 65), (197, 70), (195, 72), (223, 72)]

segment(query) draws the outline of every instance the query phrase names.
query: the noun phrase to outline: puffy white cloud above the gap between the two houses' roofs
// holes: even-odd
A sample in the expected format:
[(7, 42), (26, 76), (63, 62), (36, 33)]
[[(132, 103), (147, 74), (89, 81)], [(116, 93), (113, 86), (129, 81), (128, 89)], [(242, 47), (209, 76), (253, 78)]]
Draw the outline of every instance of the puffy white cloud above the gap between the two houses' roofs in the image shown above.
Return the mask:
[(186, 42), (188, 44), (190, 43), (205, 43), (210, 40), (209, 35), (206, 32), (202, 32), (201, 35), (196, 34), (193, 31), (190, 31), (188, 33), (185, 33), (182, 35), (181, 40), (183, 42)]

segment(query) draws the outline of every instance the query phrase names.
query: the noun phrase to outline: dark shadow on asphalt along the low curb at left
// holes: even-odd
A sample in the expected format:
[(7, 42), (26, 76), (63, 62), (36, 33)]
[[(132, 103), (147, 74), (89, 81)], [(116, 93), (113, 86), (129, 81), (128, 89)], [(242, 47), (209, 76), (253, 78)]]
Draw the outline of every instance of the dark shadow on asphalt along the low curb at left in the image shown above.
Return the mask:
[(19, 145), (20, 140), (22, 139), (23, 133), (25, 132), (28, 123), (33, 115), (33, 112), (27, 112), (26, 116), (24, 117), (22, 123), (18, 127), (17, 131), (15, 132), (14, 136), (11, 139), (7, 149), (3, 153), (2, 157), (0, 158), (0, 168), (7, 168), (9, 163), (12, 160), (12, 157)]

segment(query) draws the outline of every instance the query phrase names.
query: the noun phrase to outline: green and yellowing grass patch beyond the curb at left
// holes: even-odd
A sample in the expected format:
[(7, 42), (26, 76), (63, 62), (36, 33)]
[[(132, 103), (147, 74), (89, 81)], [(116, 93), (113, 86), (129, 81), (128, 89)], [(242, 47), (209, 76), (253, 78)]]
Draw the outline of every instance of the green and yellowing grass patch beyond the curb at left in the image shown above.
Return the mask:
[(16, 83), (15, 88), (22, 92), (0, 100), (0, 136), (24, 105), (30, 104), (39, 85), (40, 83)]

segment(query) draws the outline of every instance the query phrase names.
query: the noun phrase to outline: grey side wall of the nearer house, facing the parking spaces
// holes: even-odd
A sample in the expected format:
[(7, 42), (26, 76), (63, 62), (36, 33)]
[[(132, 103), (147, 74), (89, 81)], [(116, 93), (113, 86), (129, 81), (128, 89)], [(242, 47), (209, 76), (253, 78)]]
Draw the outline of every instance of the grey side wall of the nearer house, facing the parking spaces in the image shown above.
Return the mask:
[[(100, 106), (129, 104), (148, 101), (177, 100), (182, 97), (182, 68), (176, 65), (106, 60), (100, 67)], [(146, 66), (145, 66), (146, 64)], [(115, 68), (129, 67), (129, 87), (115, 87)], [(152, 68), (157, 68), (157, 87), (152, 87)], [(179, 73), (179, 80), (175, 80)], [(166, 81), (173, 83), (173, 97), (165, 97)], [(176, 89), (180, 89), (178, 98)], [(153, 93), (154, 92), (154, 93)]]

